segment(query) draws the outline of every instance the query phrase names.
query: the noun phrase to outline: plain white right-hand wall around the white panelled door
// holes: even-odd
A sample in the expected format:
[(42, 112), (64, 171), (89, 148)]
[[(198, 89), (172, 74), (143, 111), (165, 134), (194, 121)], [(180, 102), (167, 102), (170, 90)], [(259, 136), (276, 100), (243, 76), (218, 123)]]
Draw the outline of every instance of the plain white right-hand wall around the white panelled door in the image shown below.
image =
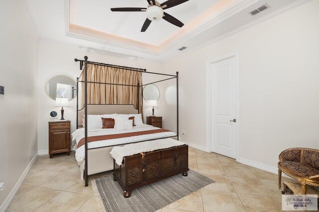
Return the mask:
[(206, 149), (206, 63), (239, 51), (242, 161), (275, 170), (284, 149), (318, 149), (318, 11), (310, 0), (167, 61), (168, 73), (180, 73), (182, 140)]

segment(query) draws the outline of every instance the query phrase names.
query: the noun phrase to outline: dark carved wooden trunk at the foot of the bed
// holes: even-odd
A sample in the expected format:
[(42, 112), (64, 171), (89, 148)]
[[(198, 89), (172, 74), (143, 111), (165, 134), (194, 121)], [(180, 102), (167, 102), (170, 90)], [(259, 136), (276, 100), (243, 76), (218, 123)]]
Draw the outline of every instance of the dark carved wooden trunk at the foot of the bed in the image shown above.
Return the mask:
[(130, 197), (133, 189), (187, 171), (188, 145), (182, 145), (124, 157), (121, 166), (114, 160), (113, 176)]

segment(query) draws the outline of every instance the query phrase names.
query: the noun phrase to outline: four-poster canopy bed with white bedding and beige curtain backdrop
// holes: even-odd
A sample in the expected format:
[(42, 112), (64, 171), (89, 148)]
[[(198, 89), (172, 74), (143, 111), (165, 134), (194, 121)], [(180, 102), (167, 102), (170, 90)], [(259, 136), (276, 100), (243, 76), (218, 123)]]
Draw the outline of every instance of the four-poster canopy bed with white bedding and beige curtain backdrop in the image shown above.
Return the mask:
[[(177, 137), (178, 140), (178, 72), (176, 75), (147, 72), (91, 62), (87, 56), (74, 61), (80, 62), (82, 72), (74, 88), (77, 129), (72, 133), (72, 140), (85, 186), (88, 186), (89, 175), (114, 169), (110, 152), (115, 146), (160, 138)], [(143, 85), (142, 74), (167, 78)], [(143, 123), (143, 87), (171, 79), (176, 79), (176, 133)], [(126, 121), (131, 119), (127, 121), (130, 126), (117, 124), (122, 123), (123, 117)], [(108, 127), (112, 124), (114, 128)]]

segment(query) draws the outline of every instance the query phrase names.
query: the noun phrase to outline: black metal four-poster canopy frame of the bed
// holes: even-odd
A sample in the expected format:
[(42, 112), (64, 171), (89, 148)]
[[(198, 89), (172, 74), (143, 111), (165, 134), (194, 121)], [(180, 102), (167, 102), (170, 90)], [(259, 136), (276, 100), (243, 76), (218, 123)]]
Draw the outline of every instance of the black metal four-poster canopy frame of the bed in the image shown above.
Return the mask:
[[(81, 75), (76, 78), (76, 128), (78, 129), (78, 113), (80, 110), (82, 110), (84, 108), (84, 119), (86, 120), (85, 121), (85, 125), (84, 125), (84, 136), (85, 136), (85, 170), (84, 170), (84, 180), (85, 180), (85, 187), (87, 187), (89, 184), (88, 184), (88, 150), (90, 149), (98, 149), (98, 148), (104, 148), (105, 146), (102, 146), (102, 147), (95, 147), (95, 148), (88, 148), (88, 128), (87, 128), (87, 116), (88, 116), (88, 110), (87, 110), (87, 107), (88, 107), (88, 103), (87, 103), (87, 93), (88, 93), (88, 90), (87, 90), (87, 84), (88, 83), (96, 83), (96, 84), (104, 84), (104, 85), (116, 85), (116, 86), (131, 86), (131, 87), (138, 87), (137, 89), (137, 92), (138, 92), (138, 95), (137, 95), (137, 98), (138, 98), (138, 111), (140, 113), (140, 87), (143, 87), (143, 86), (147, 86), (147, 85), (150, 85), (150, 84), (155, 84), (155, 83), (159, 83), (159, 82), (163, 82), (163, 81), (166, 81), (166, 80), (171, 80), (171, 79), (175, 79), (176, 78), (176, 112), (177, 112), (177, 115), (176, 115), (176, 124), (177, 124), (177, 129), (176, 129), (176, 133), (177, 133), (177, 140), (178, 140), (178, 72), (176, 72), (176, 75), (169, 75), (169, 74), (162, 74), (162, 73), (155, 73), (155, 72), (147, 72), (146, 69), (140, 69), (140, 68), (132, 68), (132, 67), (127, 67), (127, 66), (118, 66), (118, 65), (113, 65), (113, 64), (106, 64), (106, 63), (98, 63), (98, 62), (92, 62), (92, 61), (88, 61), (88, 57), (87, 56), (84, 56), (84, 60), (78, 60), (78, 59), (74, 59), (75, 62), (80, 62), (80, 70), (83, 69), (83, 63), (84, 63), (84, 66), (85, 66), (85, 70), (84, 70), (84, 81), (79, 81), (81, 75), (83, 74), (83, 70), (81, 72)], [(164, 79), (164, 80), (160, 80), (160, 81), (156, 81), (156, 82), (153, 82), (153, 83), (148, 83), (148, 84), (145, 84), (145, 85), (124, 85), (124, 84), (113, 84), (113, 83), (99, 83), (99, 82), (88, 82), (88, 76), (87, 76), (87, 64), (92, 64), (92, 65), (100, 65), (100, 66), (106, 66), (106, 67), (114, 67), (114, 68), (121, 68), (121, 69), (125, 69), (125, 70), (129, 70), (129, 71), (136, 71), (136, 72), (142, 72), (143, 73), (147, 73), (147, 74), (155, 74), (155, 75), (162, 75), (162, 76), (167, 76), (167, 77), (170, 77), (170, 78), (167, 78), (167, 79)], [(84, 83), (84, 107), (79, 109), (79, 82), (80, 83)], [(142, 93), (141, 93), (141, 96), (143, 98), (143, 89), (142, 89)], [(89, 105), (107, 105), (107, 104), (89, 104)], [(117, 104), (112, 104), (112, 105), (117, 105)], [(142, 106), (143, 106), (143, 99), (142, 99)], [(176, 136), (170, 136), (170, 137), (176, 137)], [(157, 140), (157, 139), (150, 139), (150, 140)], [(149, 140), (145, 140), (145, 141), (149, 141)], [(139, 141), (139, 142), (142, 142), (142, 141)], [(137, 142), (135, 142), (137, 143)], [(114, 145), (114, 146), (117, 146), (117, 145)]]

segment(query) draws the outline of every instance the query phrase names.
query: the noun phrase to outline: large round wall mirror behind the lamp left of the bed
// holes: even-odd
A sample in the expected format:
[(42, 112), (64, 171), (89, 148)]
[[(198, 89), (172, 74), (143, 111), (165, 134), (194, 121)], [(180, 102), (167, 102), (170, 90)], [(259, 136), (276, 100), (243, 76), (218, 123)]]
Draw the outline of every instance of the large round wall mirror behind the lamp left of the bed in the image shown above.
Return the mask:
[(45, 86), (47, 95), (55, 100), (57, 97), (69, 98), (69, 101), (76, 97), (75, 80), (68, 76), (58, 75), (52, 77)]

